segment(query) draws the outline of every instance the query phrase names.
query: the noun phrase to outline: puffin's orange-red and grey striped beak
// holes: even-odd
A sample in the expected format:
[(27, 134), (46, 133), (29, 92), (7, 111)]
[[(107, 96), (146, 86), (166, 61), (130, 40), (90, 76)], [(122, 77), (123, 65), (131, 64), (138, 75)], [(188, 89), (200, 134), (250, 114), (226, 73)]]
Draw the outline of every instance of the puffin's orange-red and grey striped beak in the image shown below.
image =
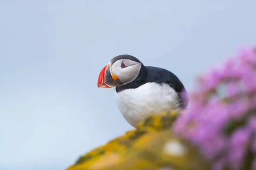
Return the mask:
[[(116, 79), (116, 75), (114, 75), (114, 78)], [(108, 65), (106, 65), (99, 73), (98, 88), (113, 88), (115, 86), (116, 82), (114, 81), (110, 71), (110, 63), (108, 63)]]

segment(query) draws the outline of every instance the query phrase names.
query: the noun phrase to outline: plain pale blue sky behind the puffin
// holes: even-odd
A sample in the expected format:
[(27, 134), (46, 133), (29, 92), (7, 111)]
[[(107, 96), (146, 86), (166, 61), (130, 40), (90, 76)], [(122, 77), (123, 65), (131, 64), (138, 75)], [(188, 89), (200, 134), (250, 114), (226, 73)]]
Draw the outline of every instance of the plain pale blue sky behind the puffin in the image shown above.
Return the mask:
[(64, 170), (133, 129), (101, 69), (130, 54), (186, 89), (256, 44), (253, 0), (0, 0), (0, 170)]

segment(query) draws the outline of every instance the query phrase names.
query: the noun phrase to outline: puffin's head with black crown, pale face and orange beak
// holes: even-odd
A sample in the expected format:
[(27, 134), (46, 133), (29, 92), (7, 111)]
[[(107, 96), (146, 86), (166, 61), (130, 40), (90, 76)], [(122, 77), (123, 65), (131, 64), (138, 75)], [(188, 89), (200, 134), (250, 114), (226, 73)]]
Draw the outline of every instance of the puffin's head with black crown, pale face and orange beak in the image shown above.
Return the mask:
[(98, 88), (113, 88), (134, 81), (140, 74), (142, 63), (131, 55), (111, 59), (99, 74)]

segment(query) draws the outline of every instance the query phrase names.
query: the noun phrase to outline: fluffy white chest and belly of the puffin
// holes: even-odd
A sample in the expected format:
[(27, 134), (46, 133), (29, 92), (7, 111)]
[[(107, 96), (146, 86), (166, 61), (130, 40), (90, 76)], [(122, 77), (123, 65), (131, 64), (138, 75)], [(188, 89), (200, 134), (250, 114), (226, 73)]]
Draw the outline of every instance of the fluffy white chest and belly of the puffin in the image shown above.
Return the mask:
[(133, 127), (148, 116), (178, 109), (175, 90), (154, 82), (116, 93), (116, 102), (125, 120)]

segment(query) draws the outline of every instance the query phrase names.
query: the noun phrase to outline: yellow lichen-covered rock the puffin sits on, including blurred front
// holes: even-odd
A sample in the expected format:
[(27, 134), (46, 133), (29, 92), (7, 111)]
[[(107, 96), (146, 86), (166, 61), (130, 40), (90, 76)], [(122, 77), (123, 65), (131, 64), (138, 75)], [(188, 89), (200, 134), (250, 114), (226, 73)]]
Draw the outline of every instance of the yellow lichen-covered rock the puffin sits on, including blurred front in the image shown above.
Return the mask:
[(136, 130), (81, 156), (67, 170), (207, 170), (198, 151), (172, 133), (177, 115), (151, 116)]

